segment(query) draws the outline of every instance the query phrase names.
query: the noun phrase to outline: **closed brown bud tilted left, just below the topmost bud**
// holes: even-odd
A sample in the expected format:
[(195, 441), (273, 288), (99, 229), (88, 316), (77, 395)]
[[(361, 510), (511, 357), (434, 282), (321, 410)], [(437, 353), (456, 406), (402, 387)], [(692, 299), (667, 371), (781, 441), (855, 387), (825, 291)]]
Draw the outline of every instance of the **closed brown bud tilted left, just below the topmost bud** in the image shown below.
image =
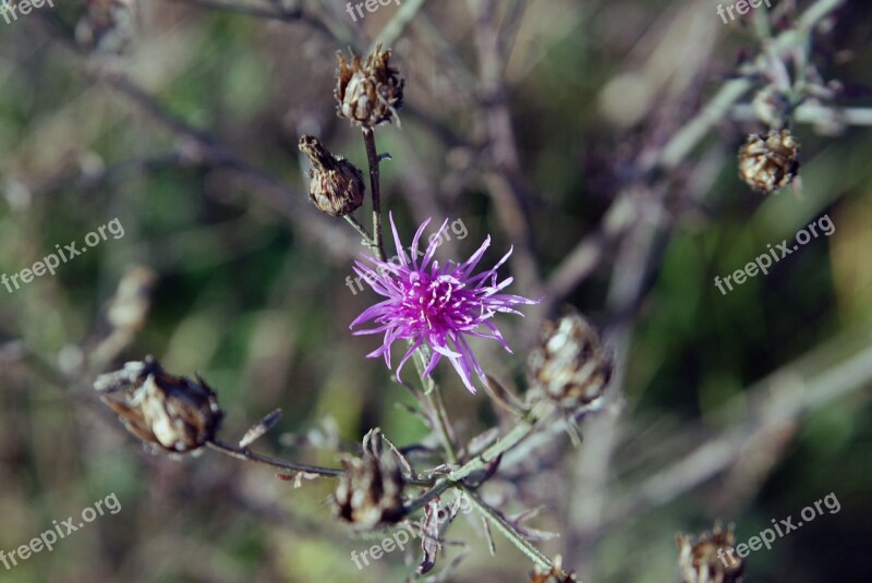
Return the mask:
[(316, 137), (300, 138), (300, 151), (312, 162), (308, 197), (318, 210), (331, 217), (350, 215), (363, 204), (363, 174), (341, 156), (334, 156)]

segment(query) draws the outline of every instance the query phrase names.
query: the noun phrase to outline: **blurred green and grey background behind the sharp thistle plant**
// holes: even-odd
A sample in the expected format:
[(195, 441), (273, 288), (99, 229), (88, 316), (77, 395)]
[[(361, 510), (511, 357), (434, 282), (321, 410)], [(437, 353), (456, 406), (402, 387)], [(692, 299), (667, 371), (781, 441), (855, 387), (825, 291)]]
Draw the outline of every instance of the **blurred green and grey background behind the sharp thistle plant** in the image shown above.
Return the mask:
[[(543, 549), (585, 582), (664, 582), (679, 581), (677, 533), (723, 519), (746, 542), (834, 493), (840, 511), (752, 552), (747, 580), (869, 581), (869, 4), (820, 20), (807, 69), (789, 66), (837, 81), (833, 104), (856, 113), (795, 123), (801, 192), (762, 196), (738, 179), (736, 151), (762, 130), (747, 114), (760, 76), (744, 109), (657, 162), (760, 53), (765, 23), (777, 34), (812, 3), (727, 25), (711, 0), (404, 0), (358, 22), (339, 1), (56, 0), (0, 21), (0, 272), (112, 219), (124, 228), (55, 277), (0, 288), (0, 549), (110, 493), (122, 506), (0, 567), (0, 581), (412, 572), (417, 554), (354, 567), (351, 551), (385, 535), (331, 519), (329, 481), (294, 488), (213, 451), (149, 454), (90, 388), (153, 354), (216, 387), (230, 441), (276, 408), (284, 416), (257, 448), (308, 463), (336, 465), (375, 426), (399, 445), (421, 439), (398, 406), (405, 389), (365, 359), (376, 339), (348, 330), (376, 296), (347, 287), (360, 246), (308, 203), (296, 149), (314, 134), (365, 167), (359, 130), (335, 113), (335, 53), (377, 38), (407, 76), (402, 125), (377, 131), (392, 155), (383, 206), (409, 241), (427, 217), (462, 220), (469, 234), (444, 258), (491, 234), (493, 264), (513, 244), (513, 289), (543, 297), (524, 320), (500, 320), (514, 354), (475, 345), (486, 369), (523, 391), (535, 330), (565, 304), (619, 360), (580, 448), (543, 442), (516, 460), (536, 469), (517, 483), (505, 469), (506, 510), (545, 505), (534, 525), (561, 536)], [(831, 236), (727, 295), (714, 287), (824, 215)], [(108, 315), (125, 277), (128, 309), (149, 306), (126, 328)], [(461, 435), (501, 421), (447, 365), (436, 376)], [(524, 581), (532, 568), (498, 534), (492, 557), (476, 520), (449, 538), (469, 554), (446, 580)], [(460, 550), (446, 552), (437, 572)]]

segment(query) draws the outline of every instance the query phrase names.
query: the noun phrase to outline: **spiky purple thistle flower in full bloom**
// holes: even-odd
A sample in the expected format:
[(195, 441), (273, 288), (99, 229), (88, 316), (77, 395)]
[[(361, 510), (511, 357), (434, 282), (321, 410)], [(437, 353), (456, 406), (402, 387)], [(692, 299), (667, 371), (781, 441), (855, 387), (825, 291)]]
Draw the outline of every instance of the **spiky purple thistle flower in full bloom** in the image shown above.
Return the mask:
[(390, 347), (393, 341), (411, 341), (409, 350), (397, 367), (398, 380), (405, 361), (419, 347), (427, 344), (433, 350), (433, 356), (427, 363), (424, 376), (429, 375), (445, 356), (455, 366), (470, 392), (474, 393), (472, 373), (483, 380), (485, 377), (465, 336), (491, 338), (511, 352), (491, 319), (497, 312), (523, 316), (513, 309), (513, 306), (537, 304), (538, 301), (499, 293), (512, 282), (512, 278), (497, 282), (497, 269), (509, 258), (511, 250), (493, 268), (477, 275), (472, 274), (485, 250), (491, 245), (489, 235), (479, 251), (462, 264), (448, 262), (440, 266), (439, 262), (433, 260), (433, 254), (439, 245), (448, 220), (443, 223), (437, 235), (432, 238), (423, 259), (419, 263), (421, 253), (417, 251), (417, 243), (429, 221), (431, 219), (427, 219), (419, 227), (410, 248), (412, 254), (410, 260), (400, 243), (397, 226), (393, 224), (393, 215), (390, 215), (390, 227), (398, 253), (393, 259), (398, 260), (399, 265), (382, 262), (367, 254), (363, 256), (373, 264), (373, 267), (361, 262), (354, 263), (354, 271), (386, 300), (366, 308), (349, 328), (372, 320), (376, 325), (375, 328), (358, 330), (354, 335), (385, 332), (382, 347), (367, 356), (373, 359), (384, 355), (388, 368), (390, 368)]

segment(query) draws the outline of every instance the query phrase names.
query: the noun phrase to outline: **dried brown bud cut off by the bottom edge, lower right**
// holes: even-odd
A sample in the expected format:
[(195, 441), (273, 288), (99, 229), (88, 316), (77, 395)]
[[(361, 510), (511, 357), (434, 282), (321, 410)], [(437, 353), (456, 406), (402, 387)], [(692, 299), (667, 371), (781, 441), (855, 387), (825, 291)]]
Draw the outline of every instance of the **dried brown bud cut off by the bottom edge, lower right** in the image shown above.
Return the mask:
[(736, 538), (732, 526), (723, 532), (715, 523), (712, 532), (699, 538), (679, 534), (678, 567), (682, 583), (734, 583), (741, 580), (744, 562), (732, 549)]

